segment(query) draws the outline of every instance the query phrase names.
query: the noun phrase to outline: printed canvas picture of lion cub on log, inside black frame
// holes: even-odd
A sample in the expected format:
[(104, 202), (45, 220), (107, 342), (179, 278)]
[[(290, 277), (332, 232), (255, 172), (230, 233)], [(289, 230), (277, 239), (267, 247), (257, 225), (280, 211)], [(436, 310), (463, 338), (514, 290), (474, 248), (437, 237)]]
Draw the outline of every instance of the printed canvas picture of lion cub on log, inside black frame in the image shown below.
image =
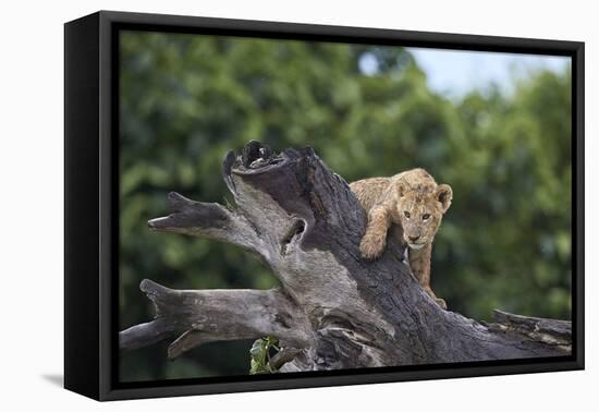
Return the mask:
[(572, 354), (571, 58), (121, 31), (118, 378)]

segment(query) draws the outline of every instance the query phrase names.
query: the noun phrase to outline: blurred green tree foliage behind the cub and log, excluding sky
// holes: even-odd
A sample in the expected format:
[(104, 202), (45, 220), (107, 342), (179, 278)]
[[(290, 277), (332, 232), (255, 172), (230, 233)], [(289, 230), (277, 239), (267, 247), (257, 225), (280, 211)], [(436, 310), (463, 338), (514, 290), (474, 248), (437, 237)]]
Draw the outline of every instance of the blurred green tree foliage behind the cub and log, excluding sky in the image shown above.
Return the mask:
[[(427, 169), (454, 192), (432, 262), (432, 287), (450, 310), (569, 319), (571, 73), (514, 82), (511, 93), (450, 100), (399, 47), (123, 32), (120, 329), (152, 316), (144, 278), (179, 289), (277, 284), (239, 249), (146, 225), (167, 214), (170, 191), (224, 202), (221, 160), (249, 140), (276, 150), (310, 145), (347, 182)], [(123, 355), (121, 379), (249, 369), (248, 341), (173, 362), (166, 346)]]

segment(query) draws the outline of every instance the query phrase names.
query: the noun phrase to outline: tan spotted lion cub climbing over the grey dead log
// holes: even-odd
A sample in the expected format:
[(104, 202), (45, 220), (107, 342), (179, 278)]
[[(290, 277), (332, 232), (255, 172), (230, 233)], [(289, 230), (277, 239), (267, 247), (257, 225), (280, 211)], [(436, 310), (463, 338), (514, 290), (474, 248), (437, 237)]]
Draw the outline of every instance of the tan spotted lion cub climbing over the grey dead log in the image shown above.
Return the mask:
[(432, 240), (448, 211), (453, 192), (437, 184), (424, 169), (413, 169), (391, 178), (371, 178), (350, 184), (362, 207), (368, 213), (366, 233), (359, 251), (365, 259), (376, 259), (384, 251), (390, 228), (408, 250), (412, 272), (425, 291), (441, 306), (445, 301), (430, 289)]

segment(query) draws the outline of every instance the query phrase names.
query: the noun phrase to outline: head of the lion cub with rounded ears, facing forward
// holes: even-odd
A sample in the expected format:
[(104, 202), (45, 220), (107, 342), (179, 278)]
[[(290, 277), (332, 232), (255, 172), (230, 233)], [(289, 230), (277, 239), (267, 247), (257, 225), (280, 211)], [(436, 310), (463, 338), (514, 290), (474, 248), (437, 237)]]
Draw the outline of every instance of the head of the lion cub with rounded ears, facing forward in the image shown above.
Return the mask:
[(448, 211), (453, 192), (448, 184), (421, 184), (399, 186), (398, 210), (403, 237), (411, 249), (423, 249), (432, 243)]

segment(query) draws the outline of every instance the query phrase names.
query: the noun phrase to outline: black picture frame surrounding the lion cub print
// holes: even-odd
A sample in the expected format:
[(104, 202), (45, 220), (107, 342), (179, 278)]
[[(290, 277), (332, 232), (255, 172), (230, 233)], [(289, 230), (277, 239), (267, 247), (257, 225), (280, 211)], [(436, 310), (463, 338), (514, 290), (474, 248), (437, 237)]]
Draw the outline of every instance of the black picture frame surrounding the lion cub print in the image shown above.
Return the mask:
[[(119, 384), (118, 40), (121, 29), (572, 58), (573, 354), (451, 365)], [(584, 43), (100, 11), (64, 26), (64, 386), (97, 400), (584, 368)]]

